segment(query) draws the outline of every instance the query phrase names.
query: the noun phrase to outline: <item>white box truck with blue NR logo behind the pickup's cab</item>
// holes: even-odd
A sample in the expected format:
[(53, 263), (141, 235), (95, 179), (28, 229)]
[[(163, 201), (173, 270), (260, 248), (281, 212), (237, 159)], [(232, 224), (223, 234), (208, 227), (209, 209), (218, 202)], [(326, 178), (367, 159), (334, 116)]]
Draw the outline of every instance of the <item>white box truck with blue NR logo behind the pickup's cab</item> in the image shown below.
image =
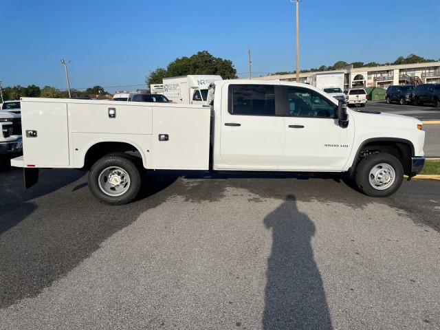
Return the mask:
[(217, 75), (192, 74), (164, 78), (164, 96), (176, 103), (206, 104), (210, 83), (223, 80)]

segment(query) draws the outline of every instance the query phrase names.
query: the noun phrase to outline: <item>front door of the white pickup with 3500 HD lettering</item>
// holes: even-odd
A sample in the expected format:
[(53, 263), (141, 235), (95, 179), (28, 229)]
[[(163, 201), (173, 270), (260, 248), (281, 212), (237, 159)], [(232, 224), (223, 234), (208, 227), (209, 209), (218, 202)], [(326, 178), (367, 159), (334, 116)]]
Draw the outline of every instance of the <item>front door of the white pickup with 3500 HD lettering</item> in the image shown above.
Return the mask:
[(285, 88), (285, 151), (280, 170), (342, 170), (353, 146), (353, 125), (342, 129), (337, 106), (301, 87)]

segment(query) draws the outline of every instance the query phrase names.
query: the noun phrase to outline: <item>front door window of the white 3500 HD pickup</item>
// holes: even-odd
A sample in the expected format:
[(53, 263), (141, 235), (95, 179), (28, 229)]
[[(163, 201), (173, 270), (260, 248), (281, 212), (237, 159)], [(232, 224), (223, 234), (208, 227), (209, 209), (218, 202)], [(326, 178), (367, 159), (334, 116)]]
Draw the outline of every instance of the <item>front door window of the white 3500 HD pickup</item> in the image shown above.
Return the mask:
[(309, 89), (287, 87), (290, 116), (334, 118), (336, 104)]

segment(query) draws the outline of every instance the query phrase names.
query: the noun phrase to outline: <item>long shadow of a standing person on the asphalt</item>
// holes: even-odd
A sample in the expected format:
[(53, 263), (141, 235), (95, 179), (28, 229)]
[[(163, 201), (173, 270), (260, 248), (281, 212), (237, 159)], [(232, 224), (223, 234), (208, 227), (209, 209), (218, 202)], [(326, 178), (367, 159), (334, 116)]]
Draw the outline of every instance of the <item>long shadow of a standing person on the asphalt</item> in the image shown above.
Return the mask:
[(311, 237), (315, 225), (293, 195), (265, 219), (272, 228), (263, 329), (333, 329)]

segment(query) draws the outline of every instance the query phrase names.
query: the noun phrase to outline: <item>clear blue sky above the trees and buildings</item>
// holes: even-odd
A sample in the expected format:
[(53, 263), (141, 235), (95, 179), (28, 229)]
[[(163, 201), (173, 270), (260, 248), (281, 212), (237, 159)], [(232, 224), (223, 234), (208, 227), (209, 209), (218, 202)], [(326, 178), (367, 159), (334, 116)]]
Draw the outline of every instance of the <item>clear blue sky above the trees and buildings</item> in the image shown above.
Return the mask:
[[(207, 50), (240, 78), (294, 71), (295, 3), (290, 0), (0, 0), (2, 86), (106, 91), (145, 88), (157, 67)], [(440, 59), (440, 0), (303, 0), (300, 69)]]

